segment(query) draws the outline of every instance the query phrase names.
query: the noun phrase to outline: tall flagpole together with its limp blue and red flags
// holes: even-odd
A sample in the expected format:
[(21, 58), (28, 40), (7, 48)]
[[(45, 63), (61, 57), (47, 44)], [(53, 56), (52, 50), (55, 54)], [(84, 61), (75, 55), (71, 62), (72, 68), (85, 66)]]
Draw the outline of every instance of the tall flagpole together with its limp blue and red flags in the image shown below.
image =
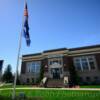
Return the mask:
[(17, 81), (17, 74), (18, 74), (18, 67), (19, 67), (19, 58), (20, 58), (20, 50), (21, 50), (21, 40), (22, 40), (22, 34), (24, 33), (24, 37), (26, 39), (27, 46), (30, 46), (30, 35), (29, 35), (29, 26), (28, 26), (28, 9), (27, 9), (27, 3), (25, 1), (25, 8), (24, 8), (24, 22), (22, 27), (22, 32), (20, 33), (19, 38), (19, 47), (18, 47), (18, 55), (17, 55), (17, 64), (16, 64), (16, 72), (15, 72), (15, 78), (14, 78), (14, 88), (13, 88), (13, 94), (12, 99), (15, 100), (16, 97), (16, 81)]

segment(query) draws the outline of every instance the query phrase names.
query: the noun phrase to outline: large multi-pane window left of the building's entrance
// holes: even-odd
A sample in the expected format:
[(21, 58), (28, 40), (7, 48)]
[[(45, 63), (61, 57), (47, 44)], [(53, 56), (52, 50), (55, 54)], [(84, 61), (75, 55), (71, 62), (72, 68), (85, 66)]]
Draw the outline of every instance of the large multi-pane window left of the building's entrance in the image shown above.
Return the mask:
[(33, 61), (27, 63), (27, 72), (31, 73), (39, 73), (40, 72), (41, 63), (40, 61)]

